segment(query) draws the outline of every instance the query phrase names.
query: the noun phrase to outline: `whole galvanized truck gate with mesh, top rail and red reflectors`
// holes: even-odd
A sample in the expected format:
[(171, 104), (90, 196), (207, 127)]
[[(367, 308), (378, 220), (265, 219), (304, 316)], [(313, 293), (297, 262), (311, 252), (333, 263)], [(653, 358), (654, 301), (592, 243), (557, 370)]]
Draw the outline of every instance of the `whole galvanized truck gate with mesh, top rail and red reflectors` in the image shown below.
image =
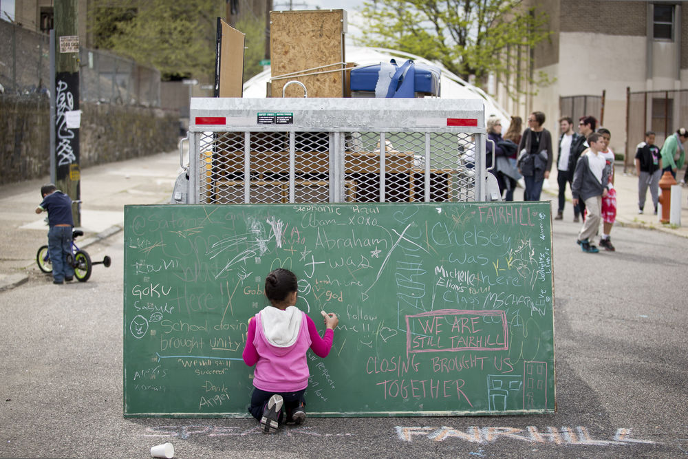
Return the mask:
[(484, 199), (480, 100), (192, 98), (189, 202)]

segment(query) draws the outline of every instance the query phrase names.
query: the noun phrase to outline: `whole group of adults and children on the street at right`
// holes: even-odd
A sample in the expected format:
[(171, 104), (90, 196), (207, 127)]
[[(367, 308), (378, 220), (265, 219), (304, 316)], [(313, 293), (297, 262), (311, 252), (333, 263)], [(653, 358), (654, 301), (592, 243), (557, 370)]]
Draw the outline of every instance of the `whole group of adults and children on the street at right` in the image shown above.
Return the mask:
[[(488, 139), (495, 142), (495, 167), (493, 174), (499, 184), (499, 192), (505, 200), (513, 200), (513, 190), (517, 180), (525, 182), (524, 200), (538, 201), (542, 185), (550, 176), (554, 163), (552, 135), (543, 127), (545, 115), (533, 111), (528, 116), (528, 127), (521, 131), (522, 120), (511, 117), (509, 129), (502, 136), (499, 118), (487, 121)], [(563, 220), (566, 204), (566, 184), (573, 196), (574, 222), (583, 220), (577, 243), (583, 252), (599, 252), (592, 237), (602, 232), (599, 246), (614, 251), (610, 233), (616, 221), (616, 190), (614, 189), (614, 152), (610, 148), (612, 137), (609, 129), (597, 126), (594, 116), (581, 116), (578, 132), (574, 130), (574, 120), (568, 116), (559, 119), (557, 184), (559, 186), (558, 209), (555, 220)], [(645, 142), (636, 149), (636, 172), (638, 174), (638, 212), (643, 213), (647, 189), (652, 195), (654, 213), (658, 206), (658, 183), (663, 171), (669, 171), (674, 178), (685, 162), (685, 149), (688, 131), (678, 129), (664, 142), (661, 149), (654, 145), (655, 133), (647, 131)], [(488, 156), (487, 167), (491, 167)], [(688, 176), (688, 171), (687, 171)]]

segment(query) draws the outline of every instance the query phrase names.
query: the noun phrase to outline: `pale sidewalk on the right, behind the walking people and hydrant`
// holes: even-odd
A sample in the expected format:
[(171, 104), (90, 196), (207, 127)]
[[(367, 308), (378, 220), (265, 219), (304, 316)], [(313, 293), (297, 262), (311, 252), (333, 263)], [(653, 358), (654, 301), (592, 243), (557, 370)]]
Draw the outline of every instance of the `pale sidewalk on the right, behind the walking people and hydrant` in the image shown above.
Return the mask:
[[(681, 237), (688, 237), (688, 188), (682, 188), (681, 195), (681, 226), (671, 228), (669, 224), (659, 221), (660, 215), (653, 215), (652, 196), (647, 191), (645, 197), (645, 212), (638, 214), (638, 177), (636, 175), (623, 175), (623, 163), (616, 162), (616, 177), (614, 178), (614, 188), (616, 189), (616, 223), (621, 226), (632, 228), (646, 228), (663, 231)], [(554, 167), (549, 180), (546, 180), (544, 191), (552, 195), (552, 218), (557, 215), (557, 168)], [(661, 191), (661, 190), (660, 190)], [(543, 198), (544, 199), (544, 198)], [(564, 206), (563, 218), (567, 221), (573, 220), (573, 204), (571, 190), (566, 187), (566, 206)], [(557, 222), (554, 222), (555, 228)]]

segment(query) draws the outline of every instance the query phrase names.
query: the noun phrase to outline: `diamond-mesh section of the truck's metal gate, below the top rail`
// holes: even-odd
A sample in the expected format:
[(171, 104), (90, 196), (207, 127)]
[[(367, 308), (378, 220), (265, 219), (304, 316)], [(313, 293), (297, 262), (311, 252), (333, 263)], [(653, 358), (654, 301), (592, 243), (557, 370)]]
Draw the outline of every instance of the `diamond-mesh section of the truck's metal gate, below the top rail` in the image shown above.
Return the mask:
[(469, 134), (355, 131), (337, 133), (338, 142), (325, 131), (195, 135), (204, 204), (475, 200)]

